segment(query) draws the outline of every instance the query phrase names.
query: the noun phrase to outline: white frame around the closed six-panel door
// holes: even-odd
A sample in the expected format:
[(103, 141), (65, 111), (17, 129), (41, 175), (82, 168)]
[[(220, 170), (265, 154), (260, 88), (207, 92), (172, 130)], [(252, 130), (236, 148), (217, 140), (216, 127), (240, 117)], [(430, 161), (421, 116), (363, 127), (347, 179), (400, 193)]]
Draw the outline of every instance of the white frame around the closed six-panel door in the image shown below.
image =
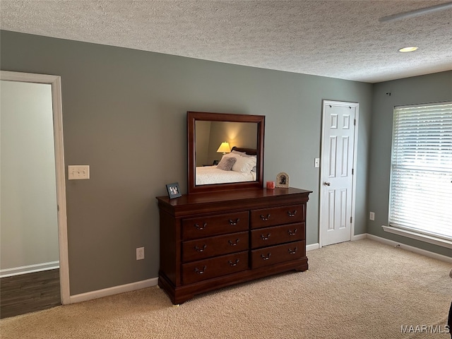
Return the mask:
[(350, 240), (353, 240), (355, 236), (355, 208), (356, 208), (356, 174), (357, 174), (357, 150), (358, 150), (358, 121), (359, 121), (359, 103), (358, 102), (345, 102), (345, 101), (335, 101), (335, 100), (322, 100), (322, 133), (321, 133), (321, 154), (320, 154), (320, 177), (319, 177), (319, 248), (323, 246), (322, 243), (322, 224), (323, 224), (323, 199), (327, 197), (324, 196), (323, 192), (323, 174), (325, 174), (326, 168), (323, 164), (323, 150), (325, 145), (323, 143), (323, 138), (325, 136), (325, 128), (326, 124), (326, 114), (325, 114), (325, 106), (326, 105), (335, 105), (335, 106), (343, 106), (343, 107), (355, 107), (355, 133), (354, 133), (354, 141), (353, 141), (353, 174), (352, 174), (352, 210), (350, 212), (350, 216), (352, 217), (352, 222), (350, 225)]

